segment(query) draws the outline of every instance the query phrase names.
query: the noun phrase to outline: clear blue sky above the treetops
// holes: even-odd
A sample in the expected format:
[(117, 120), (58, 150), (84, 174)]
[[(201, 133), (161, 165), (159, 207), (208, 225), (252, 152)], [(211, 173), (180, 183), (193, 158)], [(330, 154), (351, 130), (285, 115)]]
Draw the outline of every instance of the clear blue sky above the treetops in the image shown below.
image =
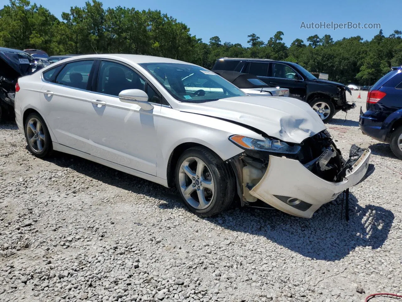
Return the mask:
[[(3, 3), (2, 3), (3, 2)], [(31, 1), (35, 2), (35, 1)], [(402, 11), (400, 0), (387, 1), (325, 1), (325, 0), (104, 0), (103, 6), (114, 7), (116, 4), (135, 7), (138, 10), (161, 10), (178, 21), (184, 22), (191, 29), (191, 34), (208, 42), (212, 36), (219, 36), (222, 43), (230, 41), (247, 45), (247, 35), (256, 33), (267, 42), (277, 31), (283, 31), (283, 41), (290, 43), (300, 38), (306, 42), (310, 35), (322, 37), (330, 34), (334, 40), (360, 35), (371, 39), (379, 29), (300, 29), (304, 23), (320, 22), (361, 22), (380, 23), (384, 35), (390, 35), (395, 29), (402, 30), (399, 12)], [(353, 3), (352, 3), (353, 2)], [(0, 4), (8, 1), (0, 0)], [(48, 8), (56, 17), (70, 10), (70, 6), (84, 6), (85, 0), (37, 0)], [(1, 5), (1, 6), (2, 6)]]

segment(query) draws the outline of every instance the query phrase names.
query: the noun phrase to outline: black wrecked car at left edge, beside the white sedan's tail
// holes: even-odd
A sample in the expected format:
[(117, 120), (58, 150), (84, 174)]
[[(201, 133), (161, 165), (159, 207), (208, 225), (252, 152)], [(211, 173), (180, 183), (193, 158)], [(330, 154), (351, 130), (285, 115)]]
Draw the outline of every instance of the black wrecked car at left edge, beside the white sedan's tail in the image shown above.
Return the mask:
[(0, 121), (14, 112), (17, 79), (44, 66), (26, 52), (0, 48)]

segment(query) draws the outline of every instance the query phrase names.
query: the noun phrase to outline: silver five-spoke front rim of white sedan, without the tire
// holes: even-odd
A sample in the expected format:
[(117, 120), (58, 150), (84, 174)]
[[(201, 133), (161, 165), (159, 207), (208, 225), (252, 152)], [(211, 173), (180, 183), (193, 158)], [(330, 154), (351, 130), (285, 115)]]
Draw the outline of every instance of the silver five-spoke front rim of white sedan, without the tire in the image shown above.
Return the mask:
[(187, 203), (205, 209), (213, 200), (215, 183), (207, 164), (198, 157), (187, 157), (180, 165), (180, 190)]

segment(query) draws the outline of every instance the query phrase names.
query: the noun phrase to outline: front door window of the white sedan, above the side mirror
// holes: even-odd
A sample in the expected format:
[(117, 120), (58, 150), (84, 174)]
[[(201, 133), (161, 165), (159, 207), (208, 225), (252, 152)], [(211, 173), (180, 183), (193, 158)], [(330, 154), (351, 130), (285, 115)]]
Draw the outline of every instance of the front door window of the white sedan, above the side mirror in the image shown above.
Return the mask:
[(97, 91), (119, 96), (126, 89), (140, 89), (148, 94), (148, 101), (161, 103), (159, 94), (137, 72), (119, 63), (103, 61), (99, 69)]

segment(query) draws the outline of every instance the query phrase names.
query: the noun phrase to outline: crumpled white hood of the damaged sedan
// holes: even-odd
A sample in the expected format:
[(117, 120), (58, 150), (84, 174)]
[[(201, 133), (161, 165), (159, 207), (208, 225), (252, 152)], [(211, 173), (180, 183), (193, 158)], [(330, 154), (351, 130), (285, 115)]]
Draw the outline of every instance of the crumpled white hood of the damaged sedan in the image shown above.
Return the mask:
[(178, 109), (242, 123), (289, 143), (301, 143), (326, 129), (310, 105), (291, 97), (244, 96), (204, 103), (182, 102)]

